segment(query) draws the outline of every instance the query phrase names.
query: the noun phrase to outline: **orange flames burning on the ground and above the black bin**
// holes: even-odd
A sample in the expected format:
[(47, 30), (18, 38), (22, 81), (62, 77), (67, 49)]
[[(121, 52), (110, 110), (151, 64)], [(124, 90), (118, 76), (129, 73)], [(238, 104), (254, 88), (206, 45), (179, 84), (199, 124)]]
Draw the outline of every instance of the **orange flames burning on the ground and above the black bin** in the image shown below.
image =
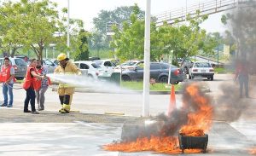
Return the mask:
[[(196, 84), (191, 84), (185, 90), (189, 98), (198, 107), (196, 112), (188, 114), (188, 123), (183, 125), (180, 133), (184, 136), (204, 136), (205, 131), (209, 130), (212, 124), (212, 107), (210, 101), (204, 95), (201, 95), (200, 89)], [(184, 101), (189, 103), (189, 101)], [(183, 104), (183, 107), (184, 104)], [(121, 152), (139, 152), (155, 151), (156, 153), (181, 153), (176, 136), (151, 136), (137, 138), (136, 142), (115, 142), (103, 146), (108, 151)], [(186, 153), (200, 153), (201, 149), (187, 149)]]

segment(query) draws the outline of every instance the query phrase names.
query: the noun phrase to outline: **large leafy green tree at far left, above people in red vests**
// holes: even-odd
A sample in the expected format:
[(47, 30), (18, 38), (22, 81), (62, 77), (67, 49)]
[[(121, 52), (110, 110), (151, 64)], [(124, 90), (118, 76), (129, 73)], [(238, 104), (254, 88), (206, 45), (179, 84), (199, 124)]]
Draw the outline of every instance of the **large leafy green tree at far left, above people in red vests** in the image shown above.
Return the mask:
[(29, 47), (42, 60), (45, 46), (55, 42), (54, 34), (60, 32), (56, 7), (49, 0), (3, 3), (0, 17), (3, 45)]

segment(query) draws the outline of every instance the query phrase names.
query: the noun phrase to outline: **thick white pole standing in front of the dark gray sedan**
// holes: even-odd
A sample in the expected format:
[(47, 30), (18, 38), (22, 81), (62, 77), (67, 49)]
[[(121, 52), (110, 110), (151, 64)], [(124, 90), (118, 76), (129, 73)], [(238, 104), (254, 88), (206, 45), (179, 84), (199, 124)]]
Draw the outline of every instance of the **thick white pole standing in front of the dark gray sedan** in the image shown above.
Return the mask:
[(149, 75), (150, 75), (150, 9), (151, 0), (146, 1), (145, 40), (144, 40), (144, 73), (143, 73), (143, 117), (149, 117)]

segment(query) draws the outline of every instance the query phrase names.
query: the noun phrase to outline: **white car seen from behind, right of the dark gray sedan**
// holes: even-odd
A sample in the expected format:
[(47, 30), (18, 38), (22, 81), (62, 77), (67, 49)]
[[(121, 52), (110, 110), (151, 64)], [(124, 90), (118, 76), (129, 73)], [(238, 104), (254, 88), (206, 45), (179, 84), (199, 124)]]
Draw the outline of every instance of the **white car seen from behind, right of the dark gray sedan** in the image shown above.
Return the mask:
[(213, 75), (214, 69), (208, 62), (195, 62), (189, 69), (189, 79), (200, 77), (213, 80)]

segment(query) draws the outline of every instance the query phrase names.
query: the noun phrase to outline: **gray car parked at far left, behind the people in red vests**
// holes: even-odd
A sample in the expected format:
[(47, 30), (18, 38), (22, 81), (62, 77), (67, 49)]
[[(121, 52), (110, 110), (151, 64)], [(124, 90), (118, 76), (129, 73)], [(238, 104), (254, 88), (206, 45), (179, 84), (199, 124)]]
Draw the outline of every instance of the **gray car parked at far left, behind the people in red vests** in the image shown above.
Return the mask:
[[(0, 66), (3, 66), (4, 58), (0, 58)], [(9, 58), (15, 68), (15, 78), (21, 80), (26, 76), (26, 61), (20, 58)]]

